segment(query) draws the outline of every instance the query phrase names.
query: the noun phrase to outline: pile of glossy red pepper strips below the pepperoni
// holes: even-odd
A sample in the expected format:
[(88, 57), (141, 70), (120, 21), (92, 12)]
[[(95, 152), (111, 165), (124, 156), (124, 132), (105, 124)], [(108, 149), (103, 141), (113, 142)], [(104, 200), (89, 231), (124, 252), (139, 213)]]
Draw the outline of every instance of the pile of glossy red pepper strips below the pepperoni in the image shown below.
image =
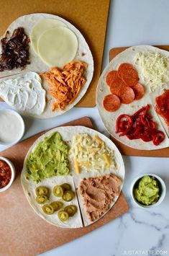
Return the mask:
[(163, 131), (157, 130), (156, 123), (152, 120), (152, 116), (148, 114), (150, 105), (137, 110), (132, 116), (119, 115), (116, 122), (116, 133), (120, 133), (119, 137), (127, 136), (130, 140), (142, 139), (142, 141), (152, 143), (157, 146), (165, 138)]

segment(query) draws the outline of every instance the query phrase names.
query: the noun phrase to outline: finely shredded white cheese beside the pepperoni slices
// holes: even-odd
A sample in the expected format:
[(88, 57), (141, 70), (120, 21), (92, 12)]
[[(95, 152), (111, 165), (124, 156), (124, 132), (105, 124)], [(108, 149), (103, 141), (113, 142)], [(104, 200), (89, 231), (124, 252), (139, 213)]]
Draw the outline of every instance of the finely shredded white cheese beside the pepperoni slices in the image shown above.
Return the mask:
[(157, 51), (145, 51), (136, 54), (134, 65), (151, 92), (169, 84), (169, 57)]

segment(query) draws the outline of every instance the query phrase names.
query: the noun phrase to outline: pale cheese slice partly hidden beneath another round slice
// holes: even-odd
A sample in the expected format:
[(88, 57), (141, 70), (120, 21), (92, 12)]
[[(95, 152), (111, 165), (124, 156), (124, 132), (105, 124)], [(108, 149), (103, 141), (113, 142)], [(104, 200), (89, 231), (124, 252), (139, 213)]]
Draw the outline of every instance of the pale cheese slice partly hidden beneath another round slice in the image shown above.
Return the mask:
[(32, 27), (32, 31), (30, 34), (30, 40), (32, 43), (32, 46), (36, 53), (38, 53), (37, 50), (37, 42), (40, 39), (40, 36), (47, 30), (50, 30), (53, 27), (66, 27), (64, 22), (61, 22), (58, 19), (40, 19), (39, 22), (37, 22), (34, 27)]

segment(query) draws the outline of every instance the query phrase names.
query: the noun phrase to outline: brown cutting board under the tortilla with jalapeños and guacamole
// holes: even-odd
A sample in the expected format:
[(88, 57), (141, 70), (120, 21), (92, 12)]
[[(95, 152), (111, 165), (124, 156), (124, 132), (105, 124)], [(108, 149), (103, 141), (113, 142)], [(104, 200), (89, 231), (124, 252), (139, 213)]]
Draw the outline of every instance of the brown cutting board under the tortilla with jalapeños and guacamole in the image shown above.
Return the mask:
[[(84, 125), (93, 128), (89, 118), (74, 120), (65, 125)], [(61, 229), (41, 219), (29, 206), (22, 190), (20, 172), (30, 146), (43, 133), (39, 133), (0, 153), (16, 167), (17, 177), (9, 190), (0, 193), (0, 256), (33, 256), (83, 236), (116, 219), (129, 210), (123, 193), (113, 208), (96, 223), (81, 229)]]

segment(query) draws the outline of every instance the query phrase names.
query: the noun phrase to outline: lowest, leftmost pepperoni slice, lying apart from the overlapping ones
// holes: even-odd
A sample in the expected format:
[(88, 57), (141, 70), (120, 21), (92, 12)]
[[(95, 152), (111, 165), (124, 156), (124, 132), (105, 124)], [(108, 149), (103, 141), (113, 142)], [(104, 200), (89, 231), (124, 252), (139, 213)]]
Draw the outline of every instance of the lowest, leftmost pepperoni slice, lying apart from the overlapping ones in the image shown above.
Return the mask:
[(109, 112), (114, 112), (119, 109), (121, 103), (117, 95), (109, 94), (109, 95), (106, 95), (106, 97), (104, 97), (103, 105), (105, 110)]

